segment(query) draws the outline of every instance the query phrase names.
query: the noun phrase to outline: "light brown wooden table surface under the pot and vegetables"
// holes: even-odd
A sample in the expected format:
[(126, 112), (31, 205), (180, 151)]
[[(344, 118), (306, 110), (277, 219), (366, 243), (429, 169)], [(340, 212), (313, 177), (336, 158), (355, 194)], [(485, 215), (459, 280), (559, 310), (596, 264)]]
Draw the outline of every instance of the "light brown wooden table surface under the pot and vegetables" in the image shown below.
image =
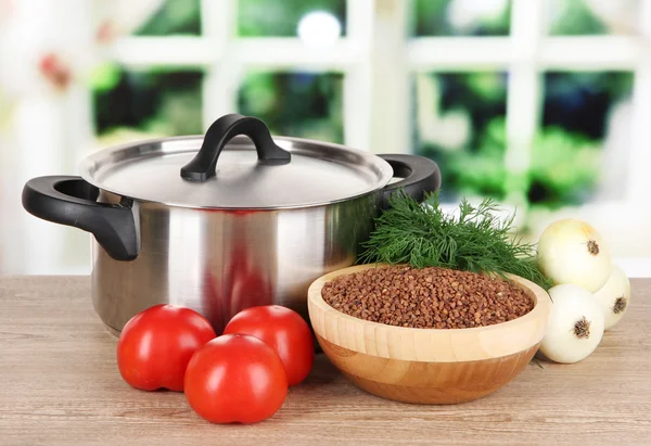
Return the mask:
[(477, 402), (384, 400), (319, 355), (275, 417), (216, 425), (182, 394), (122, 381), (88, 278), (0, 278), (0, 445), (651, 445), (651, 280), (633, 290), (624, 320), (592, 356), (532, 364)]

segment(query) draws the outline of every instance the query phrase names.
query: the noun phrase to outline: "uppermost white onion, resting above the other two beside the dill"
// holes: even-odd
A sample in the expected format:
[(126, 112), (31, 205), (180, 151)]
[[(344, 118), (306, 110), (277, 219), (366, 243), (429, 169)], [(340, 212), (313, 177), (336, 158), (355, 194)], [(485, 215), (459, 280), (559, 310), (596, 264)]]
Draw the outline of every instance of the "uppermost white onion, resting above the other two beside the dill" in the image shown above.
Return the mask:
[(590, 293), (598, 291), (611, 273), (610, 249), (585, 221), (566, 218), (549, 225), (537, 247), (540, 272), (554, 285), (573, 283)]

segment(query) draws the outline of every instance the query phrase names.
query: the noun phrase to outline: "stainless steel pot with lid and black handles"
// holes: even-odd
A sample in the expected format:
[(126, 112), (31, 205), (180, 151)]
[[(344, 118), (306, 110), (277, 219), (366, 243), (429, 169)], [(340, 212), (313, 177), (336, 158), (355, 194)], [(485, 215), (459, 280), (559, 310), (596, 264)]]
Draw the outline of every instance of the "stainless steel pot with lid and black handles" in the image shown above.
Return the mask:
[[(390, 184), (394, 176), (404, 179)], [(424, 157), (271, 138), (261, 120), (226, 115), (205, 138), (107, 149), (81, 177), (31, 179), (23, 206), (94, 235), (92, 301), (112, 332), (159, 303), (221, 332), (255, 305), (308, 320), (307, 288), (355, 263), (387, 196), (401, 188), (422, 200), (439, 184)]]

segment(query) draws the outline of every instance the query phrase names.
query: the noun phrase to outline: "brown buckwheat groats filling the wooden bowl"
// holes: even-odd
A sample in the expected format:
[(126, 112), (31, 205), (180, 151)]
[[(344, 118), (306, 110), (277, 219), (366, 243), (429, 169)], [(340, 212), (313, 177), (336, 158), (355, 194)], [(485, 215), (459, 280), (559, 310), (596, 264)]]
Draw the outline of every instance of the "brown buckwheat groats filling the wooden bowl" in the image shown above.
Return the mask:
[(446, 268), (368, 269), (333, 279), (321, 295), (347, 315), (410, 328), (485, 327), (516, 319), (534, 307), (506, 280)]

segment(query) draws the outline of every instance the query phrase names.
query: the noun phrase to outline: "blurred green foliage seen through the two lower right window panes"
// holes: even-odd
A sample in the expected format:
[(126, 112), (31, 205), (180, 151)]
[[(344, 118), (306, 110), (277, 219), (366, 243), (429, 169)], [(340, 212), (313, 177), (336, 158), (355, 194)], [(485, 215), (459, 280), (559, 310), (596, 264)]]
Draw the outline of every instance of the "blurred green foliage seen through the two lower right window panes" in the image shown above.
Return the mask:
[[(531, 165), (514, 176), (505, 165), (506, 78), (484, 73), (437, 74), (430, 79), (438, 85), (438, 95), (421, 92), (417, 100), (434, 102), (432, 119), (460, 110), (471, 126), (470, 137), (460, 146), (446, 148), (436, 140), (417, 142), (417, 152), (434, 158), (445, 173), (442, 196), (502, 200), (522, 192), (529, 204), (548, 208), (579, 204), (592, 195), (600, 179), (608, 117), (633, 88), (630, 73), (547, 74), (541, 125), (529, 148)], [(482, 85), (493, 87), (478, 88)]]

